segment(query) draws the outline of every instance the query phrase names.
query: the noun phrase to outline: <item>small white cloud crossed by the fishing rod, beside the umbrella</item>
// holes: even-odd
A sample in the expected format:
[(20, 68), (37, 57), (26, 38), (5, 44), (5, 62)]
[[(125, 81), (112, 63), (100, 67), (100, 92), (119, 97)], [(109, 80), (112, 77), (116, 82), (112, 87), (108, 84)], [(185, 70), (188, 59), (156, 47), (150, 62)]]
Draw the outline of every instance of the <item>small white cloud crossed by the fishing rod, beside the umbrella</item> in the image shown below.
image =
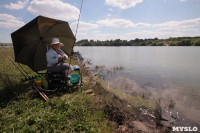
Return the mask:
[[(70, 25), (70, 27), (73, 29), (73, 31), (76, 30), (77, 27), (77, 22), (74, 22)], [(98, 24), (91, 24), (91, 23), (86, 23), (86, 22), (79, 22), (78, 25), (78, 30), (80, 31), (88, 31), (88, 30), (93, 30), (93, 29), (97, 29), (99, 27)]]

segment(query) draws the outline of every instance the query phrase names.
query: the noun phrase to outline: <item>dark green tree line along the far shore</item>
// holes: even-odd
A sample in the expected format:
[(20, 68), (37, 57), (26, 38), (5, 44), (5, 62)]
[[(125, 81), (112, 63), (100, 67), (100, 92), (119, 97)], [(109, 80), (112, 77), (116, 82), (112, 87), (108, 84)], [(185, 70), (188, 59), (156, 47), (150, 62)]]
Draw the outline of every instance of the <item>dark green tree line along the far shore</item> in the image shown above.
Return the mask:
[(139, 39), (134, 40), (106, 40), (94, 41), (83, 39), (76, 42), (75, 46), (200, 46), (200, 36), (198, 37), (170, 37), (168, 39)]

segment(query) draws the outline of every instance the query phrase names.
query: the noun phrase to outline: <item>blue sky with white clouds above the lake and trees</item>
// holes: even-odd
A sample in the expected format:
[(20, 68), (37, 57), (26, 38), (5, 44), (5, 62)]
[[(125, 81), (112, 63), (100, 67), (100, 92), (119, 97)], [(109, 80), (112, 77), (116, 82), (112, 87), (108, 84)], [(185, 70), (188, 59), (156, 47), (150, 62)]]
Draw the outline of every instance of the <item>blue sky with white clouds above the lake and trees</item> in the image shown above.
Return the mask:
[(0, 43), (42, 15), (67, 21), (77, 41), (200, 36), (200, 0), (0, 0)]

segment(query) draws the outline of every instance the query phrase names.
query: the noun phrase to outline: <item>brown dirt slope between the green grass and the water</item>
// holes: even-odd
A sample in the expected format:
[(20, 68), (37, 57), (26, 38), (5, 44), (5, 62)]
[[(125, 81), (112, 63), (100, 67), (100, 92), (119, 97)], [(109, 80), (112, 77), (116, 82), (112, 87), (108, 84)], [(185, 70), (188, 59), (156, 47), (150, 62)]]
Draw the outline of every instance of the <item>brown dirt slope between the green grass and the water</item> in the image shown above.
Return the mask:
[(103, 108), (109, 121), (116, 123), (116, 133), (171, 132), (170, 125), (160, 122), (161, 109), (157, 101), (116, 90), (78, 58), (74, 60), (82, 70), (83, 91)]

